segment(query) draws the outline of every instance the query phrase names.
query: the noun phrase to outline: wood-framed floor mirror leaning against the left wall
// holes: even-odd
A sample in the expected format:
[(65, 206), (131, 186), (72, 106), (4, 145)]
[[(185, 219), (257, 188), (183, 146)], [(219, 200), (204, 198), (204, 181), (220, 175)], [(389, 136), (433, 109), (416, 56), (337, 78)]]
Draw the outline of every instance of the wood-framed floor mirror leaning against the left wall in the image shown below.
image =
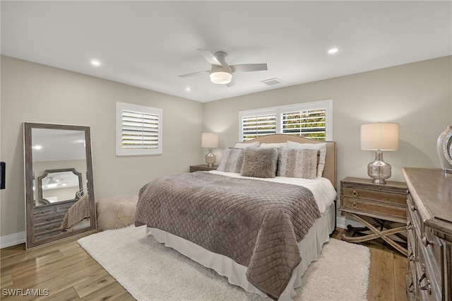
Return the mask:
[(90, 127), (25, 122), (23, 130), (26, 249), (96, 230)]

